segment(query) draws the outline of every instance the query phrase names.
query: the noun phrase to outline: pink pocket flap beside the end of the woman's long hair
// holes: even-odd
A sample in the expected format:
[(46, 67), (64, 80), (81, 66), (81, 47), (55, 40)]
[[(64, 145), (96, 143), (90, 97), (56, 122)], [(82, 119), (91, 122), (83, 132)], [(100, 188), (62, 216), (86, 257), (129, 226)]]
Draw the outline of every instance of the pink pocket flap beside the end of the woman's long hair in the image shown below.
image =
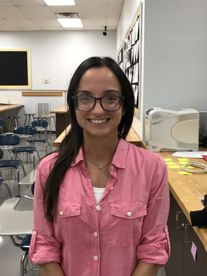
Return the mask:
[(60, 218), (79, 216), (80, 209), (81, 203), (79, 201), (59, 201), (57, 216)]

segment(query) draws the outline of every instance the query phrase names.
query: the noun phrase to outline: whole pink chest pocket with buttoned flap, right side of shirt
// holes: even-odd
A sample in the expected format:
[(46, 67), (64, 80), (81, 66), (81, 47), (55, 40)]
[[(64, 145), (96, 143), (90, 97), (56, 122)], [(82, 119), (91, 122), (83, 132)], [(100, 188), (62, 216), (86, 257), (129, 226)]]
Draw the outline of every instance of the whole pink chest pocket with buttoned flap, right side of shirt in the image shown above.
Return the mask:
[(111, 247), (131, 247), (139, 240), (147, 206), (144, 202), (113, 201), (110, 206), (108, 240)]

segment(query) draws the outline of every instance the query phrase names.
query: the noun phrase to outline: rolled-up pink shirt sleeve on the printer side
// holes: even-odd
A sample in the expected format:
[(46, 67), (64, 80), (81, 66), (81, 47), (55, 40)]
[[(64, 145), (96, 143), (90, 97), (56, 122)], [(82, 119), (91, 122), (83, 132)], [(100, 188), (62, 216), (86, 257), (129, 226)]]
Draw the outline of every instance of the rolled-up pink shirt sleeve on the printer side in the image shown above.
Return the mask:
[(167, 227), (170, 198), (167, 167), (161, 157), (158, 158), (152, 175), (147, 215), (142, 225), (137, 259), (138, 263), (154, 263), (164, 266), (170, 257)]

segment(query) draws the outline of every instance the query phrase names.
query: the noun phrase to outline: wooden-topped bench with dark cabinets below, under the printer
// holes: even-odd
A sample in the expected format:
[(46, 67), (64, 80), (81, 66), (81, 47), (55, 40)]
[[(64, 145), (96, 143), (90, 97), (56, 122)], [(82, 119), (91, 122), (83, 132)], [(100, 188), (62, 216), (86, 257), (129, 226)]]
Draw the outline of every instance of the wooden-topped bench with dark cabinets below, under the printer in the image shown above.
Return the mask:
[[(206, 149), (199, 148), (201, 151)], [(171, 156), (174, 152), (157, 152), (163, 158), (170, 158), (178, 163), (178, 156)], [(205, 159), (187, 158), (188, 162), (201, 162), (207, 165)], [(190, 211), (204, 208), (198, 197), (207, 194), (207, 173), (181, 175), (180, 169), (168, 169), (170, 189), (170, 212), (167, 224), (171, 241), (171, 257), (165, 265), (167, 276), (196, 276), (207, 275), (207, 228), (192, 227)], [(195, 168), (197, 170), (197, 168)], [(199, 169), (198, 169), (199, 170)], [(191, 247), (197, 247), (196, 261), (194, 261)]]

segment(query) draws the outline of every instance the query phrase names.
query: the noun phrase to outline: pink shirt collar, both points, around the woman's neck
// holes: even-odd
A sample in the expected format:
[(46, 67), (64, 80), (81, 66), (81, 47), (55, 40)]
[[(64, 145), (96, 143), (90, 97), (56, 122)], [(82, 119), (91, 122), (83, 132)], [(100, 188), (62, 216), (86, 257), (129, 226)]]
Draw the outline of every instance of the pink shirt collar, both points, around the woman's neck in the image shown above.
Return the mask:
[[(120, 138), (111, 163), (115, 165), (117, 168), (125, 169), (127, 153), (128, 153), (128, 142)], [(77, 165), (80, 161), (83, 161), (82, 146), (79, 149), (79, 153), (75, 157), (75, 163), (72, 164), (72, 167)]]

